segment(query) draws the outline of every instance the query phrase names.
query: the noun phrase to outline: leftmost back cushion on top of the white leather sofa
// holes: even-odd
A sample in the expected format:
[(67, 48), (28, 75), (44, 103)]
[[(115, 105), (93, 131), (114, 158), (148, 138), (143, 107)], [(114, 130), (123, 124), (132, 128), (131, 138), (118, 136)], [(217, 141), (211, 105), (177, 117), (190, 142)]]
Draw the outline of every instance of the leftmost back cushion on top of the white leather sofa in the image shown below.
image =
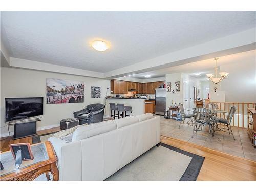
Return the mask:
[(100, 123), (92, 123), (86, 126), (80, 126), (73, 134), (72, 142), (86, 139), (95, 135), (109, 132), (116, 129), (116, 123), (113, 121), (103, 121)]

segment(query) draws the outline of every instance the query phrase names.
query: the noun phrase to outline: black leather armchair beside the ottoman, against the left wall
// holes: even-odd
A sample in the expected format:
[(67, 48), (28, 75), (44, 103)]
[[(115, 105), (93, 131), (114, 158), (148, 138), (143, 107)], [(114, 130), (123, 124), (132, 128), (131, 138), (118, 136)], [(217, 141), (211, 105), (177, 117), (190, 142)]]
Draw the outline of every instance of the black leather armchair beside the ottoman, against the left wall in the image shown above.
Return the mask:
[[(98, 123), (103, 121), (105, 105), (96, 103), (87, 105), (83, 110), (74, 112), (75, 118), (79, 120), (79, 124), (85, 123)], [(89, 114), (90, 113), (90, 114)], [(88, 116), (83, 116), (84, 114), (89, 114)]]

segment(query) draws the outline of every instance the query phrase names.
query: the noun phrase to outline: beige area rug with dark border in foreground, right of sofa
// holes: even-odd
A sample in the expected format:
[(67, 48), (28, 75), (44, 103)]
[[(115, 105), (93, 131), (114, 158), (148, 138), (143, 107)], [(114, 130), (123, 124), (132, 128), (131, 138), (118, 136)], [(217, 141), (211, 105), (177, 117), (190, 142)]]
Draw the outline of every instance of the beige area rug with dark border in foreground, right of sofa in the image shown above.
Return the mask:
[(105, 181), (196, 181), (204, 157), (161, 143)]

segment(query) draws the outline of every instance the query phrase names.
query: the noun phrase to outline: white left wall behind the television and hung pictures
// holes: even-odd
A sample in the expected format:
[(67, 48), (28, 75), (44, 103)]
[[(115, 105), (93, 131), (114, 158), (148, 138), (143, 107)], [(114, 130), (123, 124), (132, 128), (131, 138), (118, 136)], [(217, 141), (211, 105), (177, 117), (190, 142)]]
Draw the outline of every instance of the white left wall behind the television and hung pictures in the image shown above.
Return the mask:
[[(4, 98), (6, 97), (44, 97), (44, 115), (37, 126), (44, 129), (59, 125), (60, 120), (74, 117), (73, 112), (85, 108), (88, 104), (105, 102), (106, 88), (110, 80), (60, 74), (53, 72), (1, 67), (1, 127), (4, 123)], [(46, 78), (58, 78), (84, 81), (84, 103), (46, 104)], [(101, 98), (91, 98), (91, 86), (101, 87)], [(1, 135), (7, 132), (1, 128)], [(12, 130), (11, 130), (12, 132)]]

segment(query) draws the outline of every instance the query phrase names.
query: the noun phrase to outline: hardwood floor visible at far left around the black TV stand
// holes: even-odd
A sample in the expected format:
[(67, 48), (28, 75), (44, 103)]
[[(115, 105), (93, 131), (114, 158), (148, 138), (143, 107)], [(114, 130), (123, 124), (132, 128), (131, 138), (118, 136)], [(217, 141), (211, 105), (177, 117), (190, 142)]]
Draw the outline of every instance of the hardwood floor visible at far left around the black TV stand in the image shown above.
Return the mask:
[[(60, 131), (60, 127), (55, 127), (55, 128), (47, 129), (47, 130), (40, 130), (40, 131), (37, 131), (37, 134), (42, 135), (42, 134), (52, 133), (52, 132), (56, 132), (56, 131)], [(1, 140), (0, 141), (0, 151), (2, 151), (2, 152), (9, 151), (10, 144), (15, 144), (15, 143), (30, 143), (30, 144), (32, 144), (32, 137), (25, 137), (25, 138), (21, 138), (21, 139), (12, 140), (12, 136), (10, 136), (8, 138), (1, 138), (0, 140)]]

